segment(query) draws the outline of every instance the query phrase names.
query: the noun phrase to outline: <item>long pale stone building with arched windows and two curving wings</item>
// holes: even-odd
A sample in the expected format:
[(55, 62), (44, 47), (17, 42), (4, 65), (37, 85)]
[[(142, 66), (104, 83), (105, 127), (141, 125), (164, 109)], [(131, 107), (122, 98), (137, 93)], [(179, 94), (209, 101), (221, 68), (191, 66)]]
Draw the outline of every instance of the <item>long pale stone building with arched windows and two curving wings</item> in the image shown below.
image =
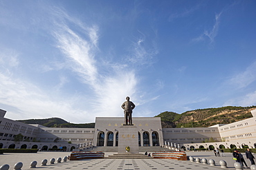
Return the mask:
[[(196, 128), (162, 128), (159, 117), (134, 117), (138, 131), (138, 147), (174, 147), (176, 149), (256, 148), (256, 109), (250, 111), (252, 118), (235, 123)], [(115, 151), (118, 139), (133, 138), (119, 134), (122, 117), (96, 117), (94, 128), (61, 128), (28, 125), (5, 118), (0, 109), (0, 149), (96, 149)], [(137, 133), (137, 132), (136, 132)], [(21, 134), (23, 141), (15, 141)], [(137, 136), (136, 136), (137, 137)], [(214, 140), (214, 142), (203, 142)], [(140, 149), (141, 150), (141, 149)]]

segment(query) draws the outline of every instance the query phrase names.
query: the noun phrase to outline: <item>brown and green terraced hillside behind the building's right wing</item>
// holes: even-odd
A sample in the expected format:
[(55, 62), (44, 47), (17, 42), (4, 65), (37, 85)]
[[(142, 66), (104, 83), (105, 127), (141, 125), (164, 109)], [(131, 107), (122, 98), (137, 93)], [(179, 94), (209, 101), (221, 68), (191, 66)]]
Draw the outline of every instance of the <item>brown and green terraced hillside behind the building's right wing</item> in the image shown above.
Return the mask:
[(239, 120), (253, 117), (251, 110), (256, 106), (250, 107), (218, 107), (208, 109), (196, 109), (185, 111), (183, 114), (165, 111), (155, 117), (161, 117), (162, 127), (210, 127), (216, 124), (234, 123)]

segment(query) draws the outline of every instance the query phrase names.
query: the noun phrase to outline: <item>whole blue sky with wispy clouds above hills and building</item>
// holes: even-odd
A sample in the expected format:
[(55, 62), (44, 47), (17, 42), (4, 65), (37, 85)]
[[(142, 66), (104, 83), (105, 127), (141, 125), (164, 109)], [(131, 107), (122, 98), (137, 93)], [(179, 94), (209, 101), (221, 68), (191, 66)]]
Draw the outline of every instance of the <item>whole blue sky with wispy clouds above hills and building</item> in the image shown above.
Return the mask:
[(256, 105), (256, 1), (0, 0), (6, 118)]

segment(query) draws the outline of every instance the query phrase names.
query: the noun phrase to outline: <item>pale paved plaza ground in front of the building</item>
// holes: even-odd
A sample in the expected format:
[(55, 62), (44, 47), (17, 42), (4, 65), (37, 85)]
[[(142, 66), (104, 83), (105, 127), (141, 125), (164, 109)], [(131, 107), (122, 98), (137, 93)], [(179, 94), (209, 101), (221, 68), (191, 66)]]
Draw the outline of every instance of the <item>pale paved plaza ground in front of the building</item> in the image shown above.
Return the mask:
[[(210, 159), (215, 160), (217, 166), (210, 166), (210, 164), (202, 164), (196, 162), (190, 162), (189, 160), (168, 160), (168, 159), (93, 159), (93, 160), (68, 160), (67, 162), (57, 163), (57, 158), (63, 158), (69, 156), (70, 152), (37, 152), (37, 153), (3, 153), (0, 154), (0, 166), (3, 164), (9, 164), (10, 169), (14, 169), (14, 165), (17, 162), (22, 162), (23, 167), (21, 169), (41, 169), (41, 170), (59, 170), (59, 169), (176, 169), (176, 170), (211, 170), (221, 169), (219, 160), (225, 160), (228, 164), (228, 170), (235, 170), (232, 160), (232, 153), (225, 153), (225, 157), (215, 157), (212, 151), (188, 151), (187, 156), (193, 156), (194, 158), (205, 158), (208, 161)], [(105, 157), (113, 155), (113, 152), (106, 152)], [(243, 153), (246, 163), (250, 167), (250, 161), (246, 159)], [(50, 164), (51, 158), (55, 158), (55, 164)], [(42, 160), (47, 159), (46, 166), (41, 166)], [(30, 168), (30, 162), (37, 161), (37, 168)]]

